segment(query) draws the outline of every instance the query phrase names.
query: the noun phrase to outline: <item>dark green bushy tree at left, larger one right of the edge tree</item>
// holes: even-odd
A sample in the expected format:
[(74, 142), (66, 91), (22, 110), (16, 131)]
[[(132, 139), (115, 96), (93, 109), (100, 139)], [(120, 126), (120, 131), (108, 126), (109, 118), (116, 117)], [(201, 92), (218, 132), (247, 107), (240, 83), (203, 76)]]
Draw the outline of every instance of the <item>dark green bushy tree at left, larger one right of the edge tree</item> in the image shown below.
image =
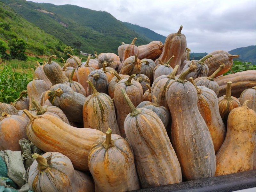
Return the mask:
[(27, 60), (28, 57), (25, 54), (25, 50), (28, 44), (23, 39), (10, 39), (8, 46), (12, 59)]

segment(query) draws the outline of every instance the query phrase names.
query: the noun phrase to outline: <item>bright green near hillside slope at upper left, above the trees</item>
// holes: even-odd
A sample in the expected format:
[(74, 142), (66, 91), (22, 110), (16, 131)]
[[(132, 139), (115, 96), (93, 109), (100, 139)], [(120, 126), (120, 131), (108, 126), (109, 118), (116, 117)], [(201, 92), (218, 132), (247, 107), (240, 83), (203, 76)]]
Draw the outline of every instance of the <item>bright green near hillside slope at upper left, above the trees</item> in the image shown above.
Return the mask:
[(60, 40), (29, 23), (11, 7), (0, 2), (0, 39), (7, 45), (12, 38), (26, 41), (28, 54), (51, 55), (56, 53), (56, 49), (62, 50), (66, 47)]

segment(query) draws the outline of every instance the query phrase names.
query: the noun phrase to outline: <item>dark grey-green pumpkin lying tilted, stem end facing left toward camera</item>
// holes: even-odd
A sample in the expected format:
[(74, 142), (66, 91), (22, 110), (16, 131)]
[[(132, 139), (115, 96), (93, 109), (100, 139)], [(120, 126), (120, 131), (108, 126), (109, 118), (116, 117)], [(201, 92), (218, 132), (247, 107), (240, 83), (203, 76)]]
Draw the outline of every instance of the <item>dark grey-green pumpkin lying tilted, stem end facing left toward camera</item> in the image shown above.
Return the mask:
[(74, 92), (68, 85), (56, 84), (49, 90), (48, 99), (65, 113), (69, 121), (83, 123), (84, 95)]

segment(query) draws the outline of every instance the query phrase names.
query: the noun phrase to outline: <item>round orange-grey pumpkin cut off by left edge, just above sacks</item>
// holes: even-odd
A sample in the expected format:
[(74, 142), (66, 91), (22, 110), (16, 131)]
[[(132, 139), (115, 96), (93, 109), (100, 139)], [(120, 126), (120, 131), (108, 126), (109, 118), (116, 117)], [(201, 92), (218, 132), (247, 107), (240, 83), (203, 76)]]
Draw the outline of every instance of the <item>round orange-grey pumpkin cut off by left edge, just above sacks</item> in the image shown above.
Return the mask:
[(0, 116), (0, 150), (20, 151), (19, 140), (28, 139), (27, 125), (28, 122), (24, 117), (3, 112)]

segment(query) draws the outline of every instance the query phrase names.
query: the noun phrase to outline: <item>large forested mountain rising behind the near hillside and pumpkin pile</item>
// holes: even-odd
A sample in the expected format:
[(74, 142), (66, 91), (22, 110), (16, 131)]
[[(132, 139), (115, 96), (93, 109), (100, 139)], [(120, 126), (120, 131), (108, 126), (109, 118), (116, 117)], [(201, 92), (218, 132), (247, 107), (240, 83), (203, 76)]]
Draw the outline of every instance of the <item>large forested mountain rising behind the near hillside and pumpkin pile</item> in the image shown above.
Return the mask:
[[(135, 45), (148, 44), (153, 40), (165, 39), (140, 26), (129, 25), (117, 20), (108, 12), (94, 11), (76, 5), (54, 5), (25, 0), (0, 0), (10, 6), (24, 19), (63, 43), (83, 52), (117, 53), (121, 42)], [(144, 32), (146, 33), (144, 34)]]

